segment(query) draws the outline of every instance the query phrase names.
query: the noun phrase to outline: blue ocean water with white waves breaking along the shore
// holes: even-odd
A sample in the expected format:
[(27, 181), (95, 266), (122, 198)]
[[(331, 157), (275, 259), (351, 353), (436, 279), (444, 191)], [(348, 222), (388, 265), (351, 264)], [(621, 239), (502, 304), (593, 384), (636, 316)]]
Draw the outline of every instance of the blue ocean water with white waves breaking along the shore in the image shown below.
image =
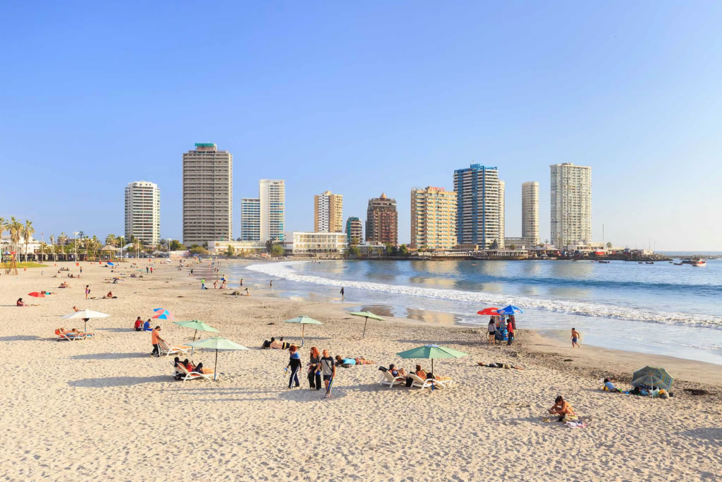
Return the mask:
[[(722, 259), (707, 267), (613, 261), (224, 262), (275, 296), (339, 300), (378, 314), (485, 326), (486, 306), (524, 310), (518, 326), (582, 332), (583, 343), (722, 364)], [(267, 288), (274, 280), (273, 291)], [(232, 283), (235, 285), (237, 283)]]

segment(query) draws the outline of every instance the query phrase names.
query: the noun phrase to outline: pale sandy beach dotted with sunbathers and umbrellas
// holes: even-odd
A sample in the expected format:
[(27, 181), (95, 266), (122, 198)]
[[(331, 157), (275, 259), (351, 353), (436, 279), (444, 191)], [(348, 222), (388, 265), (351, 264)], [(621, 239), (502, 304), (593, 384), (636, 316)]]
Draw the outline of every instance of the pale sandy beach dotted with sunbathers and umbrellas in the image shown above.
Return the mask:
[[(145, 268), (143, 261), (141, 267)], [(58, 263), (77, 274), (74, 263)], [(490, 346), (483, 329), (441, 327), (391, 319), (351, 317), (342, 303), (311, 303), (200, 290), (177, 262), (155, 273), (123, 277), (117, 285), (99, 264), (83, 263), (80, 279), (58, 267), (1, 275), (1, 475), (9, 480), (717, 480), (722, 478), (722, 367), (668, 357), (582, 346), (571, 350), (554, 337), (521, 330), (516, 343)], [(207, 266), (196, 267), (196, 275)], [(41, 275), (41, 272), (44, 272)], [(209, 271), (206, 271), (210, 275)], [(212, 277), (207, 279), (212, 280)], [(70, 288), (58, 289), (62, 281)], [(84, 287), (100, 298), (84, 300)], [(27, 293), (57, 292), (46, 298)], [(270, 292), (270, 291), (269, 291)], [(22, 297), (39, 306), (17, 307)], [(58, 342), (60, 317), (72, 306), (110, 314), (94, 319), (90, 340)], [(151, 358), (148, 332), (134, 332), (136, 317), (163, 307), (176, 320), (201, 319), (219, 335), (252, 350), (218, 356), (217, 382), (175, 381), (173, 357)], [(300, 340), (299, 389), (287, 389), (288, 352), (260, 350), (271, 336)], [(155, 320), (154, 320), (155, 321)], [(523, 321), (523, 319), (522, 319)], [(161, 320), (162, 337), (178, 344), (192, 330)], [(155, 323), (154, 323), (155, 325)], [(202, 336), (203, 334), (201, 334)], [(412, 369), (429, 361), (396, 353), (426, 343), (469, 353), (435, 361), (451, 376), (449, 390), (382, 387), (378, 366)], [(378, 363), (339, 368), (334, 397), (308, 390), (305, 366), (311, 346), (333, 356)], [(193, 361), (212, 368), (214, 353)], [(523, 371), (489, 369), (500, 361)], [(629, 387), (633, 370), (664, 366), (676, 376), (667, 400), (602, 392), (612, 376)], [(690, 395), (684, 388), (716, 392)], [(586, 429), (545, 422), (561, 394), (588, 421)], [(546, 418), (549, 418), (547, 415)], [(555, 418), (552, 418), (555, 420)]]

